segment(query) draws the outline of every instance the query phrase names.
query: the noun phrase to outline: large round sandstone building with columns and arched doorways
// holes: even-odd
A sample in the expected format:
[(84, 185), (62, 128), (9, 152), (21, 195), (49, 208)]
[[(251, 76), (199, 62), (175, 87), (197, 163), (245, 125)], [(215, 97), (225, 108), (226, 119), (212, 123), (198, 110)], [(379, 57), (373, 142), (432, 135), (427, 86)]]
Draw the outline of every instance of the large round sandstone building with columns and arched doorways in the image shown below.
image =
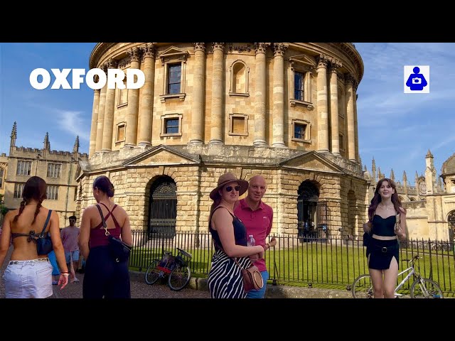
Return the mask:
[(77, 215), (107, 175), (133, 229), (207, 231), (208, 195), (231, 171), (267, 180), (274, 233), (359, 234), (369, 181), (353, 44), (98, 43), (95, 67), (140, 69), (145, 84), (95, 90)]

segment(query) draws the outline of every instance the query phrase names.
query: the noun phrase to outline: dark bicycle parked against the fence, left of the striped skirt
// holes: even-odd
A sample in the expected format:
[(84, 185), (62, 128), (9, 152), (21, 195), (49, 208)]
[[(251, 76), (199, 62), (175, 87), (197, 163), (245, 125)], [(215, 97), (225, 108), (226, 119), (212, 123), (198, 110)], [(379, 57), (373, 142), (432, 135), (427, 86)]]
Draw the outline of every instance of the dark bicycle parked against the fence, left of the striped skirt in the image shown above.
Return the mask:
[(168, 287), (173, 291), (180, 291), (185, 288), (191, 278), (189, 261), (191, 254), (183, 249), (176, 248), (177, 256), (172, 252), (164, 251), (161, 259), (154, 259), (145, 272), (145, 282), (149, 285), (156, 283), (159, 278), (168, 276)]

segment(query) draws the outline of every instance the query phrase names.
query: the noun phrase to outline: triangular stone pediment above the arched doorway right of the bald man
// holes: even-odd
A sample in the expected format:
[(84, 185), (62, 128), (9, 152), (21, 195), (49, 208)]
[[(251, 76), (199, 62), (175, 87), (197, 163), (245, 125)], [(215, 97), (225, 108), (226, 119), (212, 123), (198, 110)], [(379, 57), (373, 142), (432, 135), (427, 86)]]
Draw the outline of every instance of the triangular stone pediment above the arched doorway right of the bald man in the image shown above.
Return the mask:
[(319, 155), (315, 151), (309, 151), (299, 156), (288, 158), (280, 163), (283, 167), (299, 168), (307, 171), (323, 171), (330, 173), (344, 173), (343, 168)]

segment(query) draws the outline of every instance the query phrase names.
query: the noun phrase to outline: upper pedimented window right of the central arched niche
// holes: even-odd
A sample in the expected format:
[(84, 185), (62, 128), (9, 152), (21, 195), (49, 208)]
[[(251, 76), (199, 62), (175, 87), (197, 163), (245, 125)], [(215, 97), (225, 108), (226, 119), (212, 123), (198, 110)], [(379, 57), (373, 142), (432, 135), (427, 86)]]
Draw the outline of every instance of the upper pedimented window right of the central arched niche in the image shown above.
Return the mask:
[(307, 55), (296, 55), (289, 58), (291, 74), (288, 77), (289, 102), (291, 107), (302, 105), (313, 109), (311, 100), (311, 71), (315, 70), (316, 62)]

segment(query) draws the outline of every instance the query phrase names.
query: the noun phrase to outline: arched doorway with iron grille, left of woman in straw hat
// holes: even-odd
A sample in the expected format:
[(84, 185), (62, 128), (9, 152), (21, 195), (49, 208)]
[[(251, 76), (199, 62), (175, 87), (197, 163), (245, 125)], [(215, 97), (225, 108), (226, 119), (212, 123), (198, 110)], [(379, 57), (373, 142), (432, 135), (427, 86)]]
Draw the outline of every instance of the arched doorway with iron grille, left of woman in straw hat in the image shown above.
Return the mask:
[(150, 188), (149, 235), (174, 237), (177, 217), (177, 185), (167, 175), (157, 178)]

